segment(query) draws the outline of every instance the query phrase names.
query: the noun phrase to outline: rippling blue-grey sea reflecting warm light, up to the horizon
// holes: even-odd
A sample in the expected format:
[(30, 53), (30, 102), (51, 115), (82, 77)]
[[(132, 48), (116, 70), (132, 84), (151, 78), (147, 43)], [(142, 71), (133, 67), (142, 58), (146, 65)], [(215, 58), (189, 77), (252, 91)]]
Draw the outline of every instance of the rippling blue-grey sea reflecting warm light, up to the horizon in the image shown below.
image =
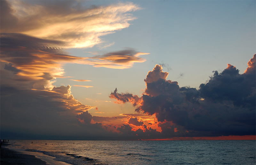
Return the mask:
[(11, 140), (10, 144), (74, 165), (256, 164), (255, 140)]

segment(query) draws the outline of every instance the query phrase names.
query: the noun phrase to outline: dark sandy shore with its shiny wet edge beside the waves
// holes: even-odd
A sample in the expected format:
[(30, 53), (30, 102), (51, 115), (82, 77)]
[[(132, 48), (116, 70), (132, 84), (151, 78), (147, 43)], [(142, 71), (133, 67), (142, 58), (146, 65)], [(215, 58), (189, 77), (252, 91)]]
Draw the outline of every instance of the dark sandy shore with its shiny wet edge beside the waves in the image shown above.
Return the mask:
[(4, 144), (0, 152), (1, 165), (71, 165), (63, 161), (53, 160), (55, 157), (45, 155), (43, 153), (17, 150), (7, 147), (10, 144)]

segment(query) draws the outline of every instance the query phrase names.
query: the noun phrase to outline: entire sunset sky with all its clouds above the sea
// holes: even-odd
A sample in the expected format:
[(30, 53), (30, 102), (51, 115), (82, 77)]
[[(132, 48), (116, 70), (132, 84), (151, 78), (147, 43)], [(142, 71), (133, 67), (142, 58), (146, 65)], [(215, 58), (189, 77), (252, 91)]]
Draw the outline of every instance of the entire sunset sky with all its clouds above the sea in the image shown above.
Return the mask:
[(0, 1), (2, 139), (255, 139), (255, 1)]

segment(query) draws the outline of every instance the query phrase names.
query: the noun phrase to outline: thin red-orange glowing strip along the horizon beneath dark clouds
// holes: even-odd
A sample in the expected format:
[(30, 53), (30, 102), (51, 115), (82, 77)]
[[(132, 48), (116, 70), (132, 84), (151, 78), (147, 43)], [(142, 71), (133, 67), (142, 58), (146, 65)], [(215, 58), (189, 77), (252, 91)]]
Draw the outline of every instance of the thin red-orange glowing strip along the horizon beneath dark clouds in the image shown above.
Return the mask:
[(216, 137), (173, 137), (166, 139), (139, 139), (139, 140), (256, 140), (256, 135), (229, 135)]

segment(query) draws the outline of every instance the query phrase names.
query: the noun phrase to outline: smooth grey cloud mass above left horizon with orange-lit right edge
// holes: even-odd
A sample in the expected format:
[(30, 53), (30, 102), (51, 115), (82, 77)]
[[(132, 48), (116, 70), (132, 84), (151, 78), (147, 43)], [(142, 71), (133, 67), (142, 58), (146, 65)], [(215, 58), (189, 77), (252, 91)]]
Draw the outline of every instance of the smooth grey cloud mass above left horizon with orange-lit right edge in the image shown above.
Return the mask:
[(69, 90), (70, 87), (20, 90), (1, 85), (1, 134), (28, 139), (49, 136), (65, 139), (84, 134), (78, 131), (81, 127), (76, 116), (78, 111), (93, 107), (75, 100)]

